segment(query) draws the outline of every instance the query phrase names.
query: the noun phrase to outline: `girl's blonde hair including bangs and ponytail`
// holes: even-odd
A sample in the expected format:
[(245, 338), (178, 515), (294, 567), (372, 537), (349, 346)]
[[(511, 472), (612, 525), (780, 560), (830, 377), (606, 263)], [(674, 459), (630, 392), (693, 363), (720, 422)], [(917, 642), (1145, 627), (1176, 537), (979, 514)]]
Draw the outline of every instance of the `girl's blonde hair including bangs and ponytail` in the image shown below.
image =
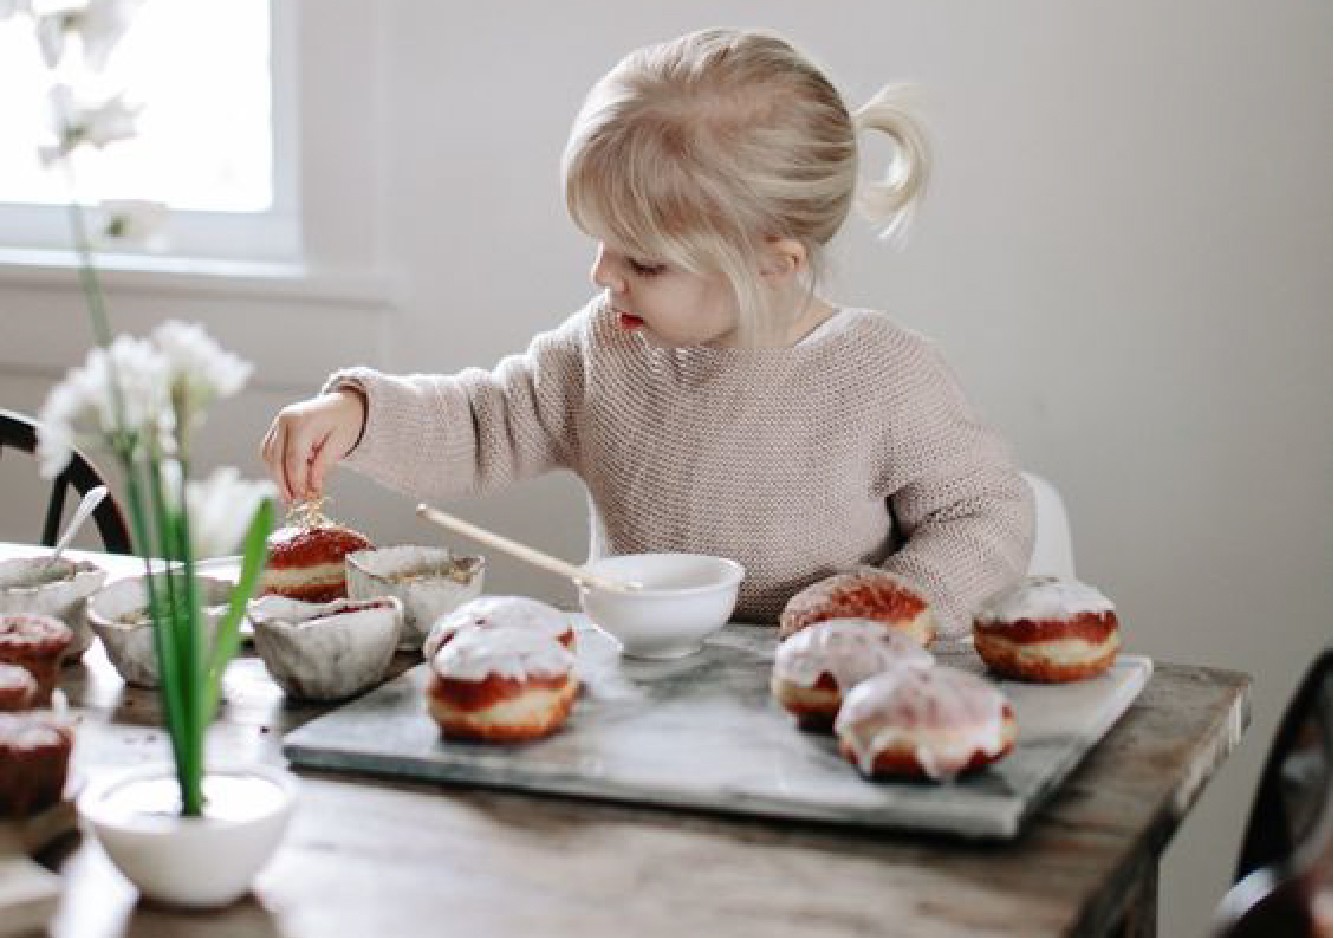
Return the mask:
[[(924, 136), (900, 97), (891, 85), (848, 113), (819, 68), (768, 33), (706, 29), (636, 49), (575, 117), (562, 160), (566, 205), (594, 238), (720, 272), (736, 292), (743, 342), (767, 344), (802, 310), (764, 308), (764, 242), (806, 248), (808, 299), (854, 203), (891, 233), (926, 185)], [(895, 159), (858, 191), (860, 128), (887, 133)]]

